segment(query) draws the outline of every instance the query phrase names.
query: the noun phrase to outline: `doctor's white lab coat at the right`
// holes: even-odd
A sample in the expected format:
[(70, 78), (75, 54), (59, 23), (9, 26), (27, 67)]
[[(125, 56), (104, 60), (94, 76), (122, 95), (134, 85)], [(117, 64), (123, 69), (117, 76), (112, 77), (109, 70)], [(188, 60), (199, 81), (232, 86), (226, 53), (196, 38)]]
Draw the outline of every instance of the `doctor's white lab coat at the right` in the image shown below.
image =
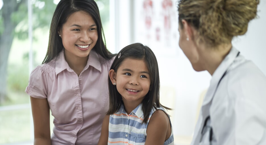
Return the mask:
[(207, 144), (266, 145), (266, 76), (235, 48), (213, 73), (195, 127), (191, 145)]

